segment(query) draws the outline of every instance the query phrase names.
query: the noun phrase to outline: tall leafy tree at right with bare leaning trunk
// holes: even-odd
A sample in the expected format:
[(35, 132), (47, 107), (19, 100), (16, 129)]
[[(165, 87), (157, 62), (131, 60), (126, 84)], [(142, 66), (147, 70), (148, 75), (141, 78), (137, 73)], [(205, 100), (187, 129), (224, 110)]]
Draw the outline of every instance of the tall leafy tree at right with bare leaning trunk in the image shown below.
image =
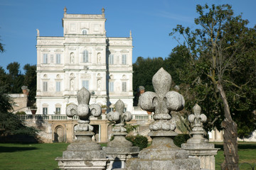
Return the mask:
[(198, 28), (191, 30), (178, 25), (170, 35), (182, 35), (183, 43), (176, 40), (186, 46), (189, 54), (189, 65), (184, 69), (192, 71), (186, 80), (199, 96), (197, 101), (203, 105), (211, 103), (212, 106), (204, 108), (212, 112), (209, 115), (215, 115), (215, 120), (222, 120), (222, 169), (238, 169), (238, 130), (233, 118), (242, 118), (244, 113), (244, 117), (251, 118), (255, 109), (256, 31), (246, 27), (248, 21), (242, 16), (233, 16), (228, 4), (211, 8), (197, 5), (196, 11)]

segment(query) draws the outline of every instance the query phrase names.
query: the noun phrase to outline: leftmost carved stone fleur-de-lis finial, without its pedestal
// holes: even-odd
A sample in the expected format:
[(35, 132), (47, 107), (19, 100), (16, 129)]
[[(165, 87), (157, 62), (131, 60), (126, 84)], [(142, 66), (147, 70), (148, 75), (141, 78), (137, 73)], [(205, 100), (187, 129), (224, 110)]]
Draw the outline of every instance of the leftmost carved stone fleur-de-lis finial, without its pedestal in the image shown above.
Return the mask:
[(90, 92), (82, 87), (78, 91), (78, 105), (70, 104), (66, 108), (66, 114), (68, 117), (72, 118), (74, 115), (78, 115), (78, 126), (75, 126), (77, 132), (90, 131), (92, 132), (93, 127), (89, 125), (90, 115), (94, 117), (99, 117), (101, 115), (101, 107), (98, 104), (89, 105), (90, 102)]

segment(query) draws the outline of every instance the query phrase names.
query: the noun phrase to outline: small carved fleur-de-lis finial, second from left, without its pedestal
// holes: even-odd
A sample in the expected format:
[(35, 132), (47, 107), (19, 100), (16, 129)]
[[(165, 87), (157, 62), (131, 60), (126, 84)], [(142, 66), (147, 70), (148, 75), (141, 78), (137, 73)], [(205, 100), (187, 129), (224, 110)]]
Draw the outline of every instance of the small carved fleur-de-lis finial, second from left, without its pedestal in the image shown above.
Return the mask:
[(124, 102), (120, 99), (114, 104), (115, 112), (111, 111), (107, 114), (107, 120), (114, 121), (115, 125), (112, 129), (114, 132), (126, 132), (124, 123), (132, 120), (132, 113), (126, 111), (124, 113)]

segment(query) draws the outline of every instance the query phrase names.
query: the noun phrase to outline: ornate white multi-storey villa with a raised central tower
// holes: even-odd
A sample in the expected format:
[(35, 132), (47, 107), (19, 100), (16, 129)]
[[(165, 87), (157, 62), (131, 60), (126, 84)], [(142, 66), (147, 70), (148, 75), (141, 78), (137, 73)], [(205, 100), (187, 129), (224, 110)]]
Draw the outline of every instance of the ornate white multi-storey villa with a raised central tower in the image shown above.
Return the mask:
[(121, 99), (133, 110), (132, 35), (109, 38), (102, 14), (68, 14), (64, 8), (63, 37), (37, 35), (36, 114), (65, 114), (85, 86), (90, 103), (110, 108)]

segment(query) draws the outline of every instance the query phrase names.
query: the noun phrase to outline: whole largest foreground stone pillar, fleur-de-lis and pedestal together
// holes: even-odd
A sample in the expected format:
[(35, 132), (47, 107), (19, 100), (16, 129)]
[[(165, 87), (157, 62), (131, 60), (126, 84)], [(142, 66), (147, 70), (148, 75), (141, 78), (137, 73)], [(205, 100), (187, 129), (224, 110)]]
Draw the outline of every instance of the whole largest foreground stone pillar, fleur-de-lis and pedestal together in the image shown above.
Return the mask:
[(171, 75), (163, 68), (152, 79), (156, 92), (146, 91), (139, 97), (139, 106), (144, 111), (154, 112), (154, 122), (149, 125), (150, 147), (139, 152), (139, 158), (127, 160), (127, 169), (147, 170), (199, 170), (199, 159), (188, 158), (186, 150), (174, 145), (176, 126), (171, 122), (171, 111), (181, 111), (185, 101), (181, 94), (169, 91)]

